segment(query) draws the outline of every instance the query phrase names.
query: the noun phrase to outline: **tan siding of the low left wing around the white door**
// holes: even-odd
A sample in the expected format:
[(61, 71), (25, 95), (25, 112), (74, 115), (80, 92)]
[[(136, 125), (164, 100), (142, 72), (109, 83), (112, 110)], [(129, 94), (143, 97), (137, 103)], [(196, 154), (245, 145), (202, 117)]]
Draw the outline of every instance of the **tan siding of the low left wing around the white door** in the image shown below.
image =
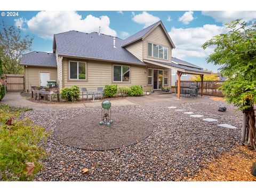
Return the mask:
[(50, 80), (57, 81), (57, 68), (53, 67), (25, 67), (25, 87), (26, 90), (31, 90), (31, 86), (40, 85), (40, 72), (49, 72)]

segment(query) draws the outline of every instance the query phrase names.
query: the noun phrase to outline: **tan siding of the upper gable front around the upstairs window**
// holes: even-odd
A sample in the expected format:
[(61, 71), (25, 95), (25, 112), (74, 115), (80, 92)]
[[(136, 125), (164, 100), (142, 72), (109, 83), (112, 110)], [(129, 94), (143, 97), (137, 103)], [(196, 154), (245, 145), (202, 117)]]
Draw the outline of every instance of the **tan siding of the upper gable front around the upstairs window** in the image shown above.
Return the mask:
[[(157, 45), (168, 47), (168, 60), (148, 57), (148, 43), (154, 43)], [(171, 58), (172, 58), (172, 45), (169, 42), (169, 39), (166, 36), (163, 28), (161, 26), (158, 26), (145, 39), (143, 39), (143, 59), (171, 62)]]

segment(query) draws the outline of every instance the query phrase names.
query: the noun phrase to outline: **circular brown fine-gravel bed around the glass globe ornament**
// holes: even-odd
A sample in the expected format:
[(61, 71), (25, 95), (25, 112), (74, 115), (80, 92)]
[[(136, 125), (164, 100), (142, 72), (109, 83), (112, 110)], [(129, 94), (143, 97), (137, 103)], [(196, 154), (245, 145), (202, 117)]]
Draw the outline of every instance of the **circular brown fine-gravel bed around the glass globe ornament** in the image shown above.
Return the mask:
[(153, 132), (153, 126), (136, 115), (112, 113), (114, 123), (110, 127), (99, 125), (100, 115), (86, 113), (66, 119), (55, 128), (54, 136), (70, 147), (109, 150), (135, 144)]

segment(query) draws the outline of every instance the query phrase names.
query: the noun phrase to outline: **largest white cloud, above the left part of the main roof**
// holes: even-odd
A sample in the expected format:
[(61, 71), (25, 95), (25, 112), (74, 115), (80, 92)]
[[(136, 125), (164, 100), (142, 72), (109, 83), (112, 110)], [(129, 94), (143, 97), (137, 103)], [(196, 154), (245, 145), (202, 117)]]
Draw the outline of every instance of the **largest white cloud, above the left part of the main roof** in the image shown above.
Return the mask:
[[(17, 25), (19, 25), (20, 21), (17, 20)], [(52, 39), (53, 34), (69, 30), (91, 33), (99, 31), (99, 26), (101, 27), (101, 33), (112, 36), (117, 35), (116, 31), (109, 27), (110, 20), (107, 16), (98, 18), (90, 14), (85, 19), (82, 19), (82, 15), (77, 14), (75, 11), (41, 11), (26, 23), (27, 30), (30, 33), (37, 34), (44, 39)]]

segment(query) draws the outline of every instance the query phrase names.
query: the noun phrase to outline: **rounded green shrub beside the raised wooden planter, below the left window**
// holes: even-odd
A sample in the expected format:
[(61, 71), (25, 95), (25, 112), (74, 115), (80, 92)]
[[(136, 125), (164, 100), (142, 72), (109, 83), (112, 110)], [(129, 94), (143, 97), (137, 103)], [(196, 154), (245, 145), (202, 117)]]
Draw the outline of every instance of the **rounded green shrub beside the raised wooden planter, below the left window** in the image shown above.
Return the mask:
[(79, 87), (78, 86), (71, 86), (71, 87), (65, 87), (61, 89), (60, 95), (61, 98), (65, 99), (66, 101), (76, 101), (79, 100)]

